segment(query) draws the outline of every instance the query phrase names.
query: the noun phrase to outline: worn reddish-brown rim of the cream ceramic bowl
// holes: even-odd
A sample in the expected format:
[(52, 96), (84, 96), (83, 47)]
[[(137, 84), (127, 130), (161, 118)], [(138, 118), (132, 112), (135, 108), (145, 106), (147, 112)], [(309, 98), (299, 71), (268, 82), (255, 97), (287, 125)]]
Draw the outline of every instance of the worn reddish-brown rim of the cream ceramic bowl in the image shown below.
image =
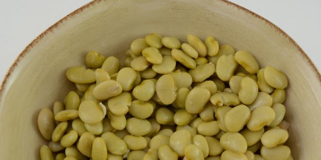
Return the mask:
[[(76, 9), (75, 11), (71, 12), (70, 14), (68, 14), (67, 16), (63, 17), (62, 19), (60, 19), (59, 21), (57, 21), (56, 23), (54, 23), (52, 26), (50, 26), (47, 30), (45, 30), (44, 32), (42, 32), (41, 34), (39, 34), (27, 47), (25, 47), (23, 49), (23, 51), (18, 55), (18, 57), (16, 58), (16, 60), (14, 61), (14, 63), (10, 66), (10, 68), (7, 70), (5, 77), (2, 80), (1, 83), (1, 87), (0, 87), (0, 102), (2, 100), (2, 96), (3, 96), (3, 92), (4, 89), (6, 87), (7, 81), (10, 78), (11, 74), (14, 72), (16, 66), (18, 65), (18, 63), (21, 61), (21, 59), (28, 54), (28, 52), (31, 50), (31, 48), (33, 48), (34, 46), (36, 46), (36, 44), (41, 41), (43, 39), (43, 37), (45, 37), (47, 34), (50, 34), (54, 31), (55, 28), (59, 27), (60, 25), (62, 25), (64, 22), (70, 20), (71, 18), (73, 18), (74, 16), (76, 16), (77, 14), (83, 12), (85, 9), (89, 8), (90, 6), (94, 6), (95, 4), (99, 3), (100, 1), (103, 0), (93, 0), (83, 6), (81, 6), (80, 8)], [(255, 18), (260, 19), (261, 21), (264, 21), (267, 25), (269, 25), (270, 27), (272, 27), (274, 30), (276, 30), (277, 32), (279, 32), (281, 35), (283, 35), (294, 47), (296, 47), (300, 53), (302, 54), (303, 58), (305, 60), (307, 60), (309, 66), (311, 67), (311, 69), (314, 71), (314, 73), (316, 74), (316, 76), (319, 79), (319, 82), (321, 83), (321, 75), (320, 72), (318, 70), (318, 68), (315, 66), (315, 64), (311, 61), (311, 59), (307, 56), (307, 54), (303, 51), (303, 49), (286, 33), (284, 32), (281, 28), (277, 27), (274, 23), (270, 22), (269, 20), (267, 20), (266, 18), (250, 11), (249, 9), (246, 9), (238, 4), (235, 4), (231, 1), (228, 0), (218, 0), (221, 1), (227, 5), (231, 5), (232, 7), (236, 7), (237, 9), (242, 10), (243, 12), (245, 12), (246, 14), (249, 14), (250, 16), (253, 16)]]

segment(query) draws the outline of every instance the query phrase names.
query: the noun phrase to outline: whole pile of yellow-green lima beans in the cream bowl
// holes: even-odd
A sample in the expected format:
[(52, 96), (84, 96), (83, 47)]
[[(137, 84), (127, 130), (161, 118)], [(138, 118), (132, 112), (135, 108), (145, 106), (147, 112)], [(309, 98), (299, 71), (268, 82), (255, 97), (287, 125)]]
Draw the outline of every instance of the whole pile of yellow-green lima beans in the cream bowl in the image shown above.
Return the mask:
[(293, 160), (277, 68), (212, 36), (152, 33), (125, 54), (66, 70), (77, 90), (39, 112), (41, 160)]

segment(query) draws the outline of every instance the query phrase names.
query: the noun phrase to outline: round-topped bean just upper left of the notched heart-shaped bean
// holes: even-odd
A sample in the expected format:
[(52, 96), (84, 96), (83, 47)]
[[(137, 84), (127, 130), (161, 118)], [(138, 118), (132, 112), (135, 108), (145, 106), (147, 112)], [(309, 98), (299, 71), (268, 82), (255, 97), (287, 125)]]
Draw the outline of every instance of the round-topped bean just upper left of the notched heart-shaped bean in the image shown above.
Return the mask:
[(136, 78), (136, 71), (130, 67), (125, 67), (118, 72), (116, 80), (122, 85), (123, 91), (127, 92), (133, 89)]

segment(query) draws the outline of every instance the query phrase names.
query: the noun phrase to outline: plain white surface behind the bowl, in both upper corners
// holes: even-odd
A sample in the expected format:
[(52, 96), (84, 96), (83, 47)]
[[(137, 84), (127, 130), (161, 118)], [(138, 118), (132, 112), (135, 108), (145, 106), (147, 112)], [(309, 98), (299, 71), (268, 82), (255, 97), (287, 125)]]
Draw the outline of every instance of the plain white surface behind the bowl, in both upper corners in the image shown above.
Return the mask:
[[(90, 0), (3, 0), (0, 5), (0, 80), (41, 32)], [(321, 70), (320, 0), (231, 0), (288, 33)]]

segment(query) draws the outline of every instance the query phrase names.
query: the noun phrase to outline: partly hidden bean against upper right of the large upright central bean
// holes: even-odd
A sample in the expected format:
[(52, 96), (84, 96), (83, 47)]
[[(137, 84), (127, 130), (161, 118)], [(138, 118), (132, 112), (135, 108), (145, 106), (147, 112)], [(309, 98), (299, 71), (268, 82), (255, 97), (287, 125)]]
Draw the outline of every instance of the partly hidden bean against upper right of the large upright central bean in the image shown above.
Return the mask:
[(170, 75), (173, 76), (175, 85), (178, 89), (182, 87), (188, 88), (192, 85), (192, 76), (187, 72), (181, 72), (180, 70), (177, 70), (175, 72), (172, 72)]

